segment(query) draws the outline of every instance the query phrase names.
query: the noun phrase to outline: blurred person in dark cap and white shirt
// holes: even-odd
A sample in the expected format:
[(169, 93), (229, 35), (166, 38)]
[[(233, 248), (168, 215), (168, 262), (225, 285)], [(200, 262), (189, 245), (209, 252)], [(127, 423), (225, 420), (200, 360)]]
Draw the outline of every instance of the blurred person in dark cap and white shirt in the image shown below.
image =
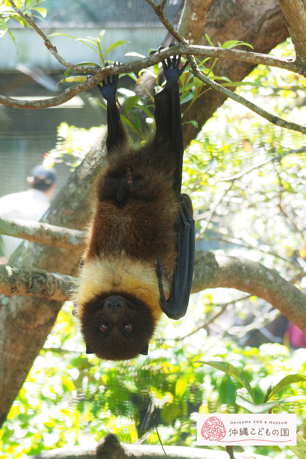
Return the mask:
[[(32, 220), (38, 222), (50, 206), (50, 199), (56, 188), (54, 168), (46, 169), (39, 164), (27, 177), (30, 189), (0, 198), (0, 218), (5, 220)], [(23, 239), (2, 235), (0, 264), (6, 264), (11, 254)]]

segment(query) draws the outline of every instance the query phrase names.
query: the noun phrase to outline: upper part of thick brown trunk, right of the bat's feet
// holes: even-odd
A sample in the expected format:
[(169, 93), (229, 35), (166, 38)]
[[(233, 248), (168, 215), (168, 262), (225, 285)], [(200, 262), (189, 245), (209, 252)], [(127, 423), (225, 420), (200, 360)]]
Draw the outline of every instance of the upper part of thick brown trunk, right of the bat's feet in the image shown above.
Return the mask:
[[(195, 11), (196, 16), (200, 13), (200, 9), (201, 2), (199, 1)], [(215, 0), (205, 23), (194, 21), (192, 36), (189, 36), (189, 28), (188, 23), (185, 26), (182, 22), (179, 32), (189, 40), (195, 35), (197, 41), (194, 43), (197, 45), (208, 45), (205, 37), (205, 34), (208, 34), (214, 45), (217, 45), (218, 41), (223, 44), (227, 40), (243, 40), (253, 45), (256, 53), (264, 54), (270, 52), (289, 36), (277, 0)], [(199, 34), (200, 40), (198, 39)], [(209, 67), (211, 63), (212, 60), (206, 62), (206, 67)], [(256, 66), (252, 63), (219, 59), (213, 72), (215, 75), (228, 77), (232, 81), (241, 81), (254, 67)], [(209, 90), (195, 101), (184, 116), (183, 122), (196, 120), (199, 127), (195, 128), (190, 123), (184, 124), (185, 146), (196, 137), (202, 126), (225, 100), (224, 95)]]

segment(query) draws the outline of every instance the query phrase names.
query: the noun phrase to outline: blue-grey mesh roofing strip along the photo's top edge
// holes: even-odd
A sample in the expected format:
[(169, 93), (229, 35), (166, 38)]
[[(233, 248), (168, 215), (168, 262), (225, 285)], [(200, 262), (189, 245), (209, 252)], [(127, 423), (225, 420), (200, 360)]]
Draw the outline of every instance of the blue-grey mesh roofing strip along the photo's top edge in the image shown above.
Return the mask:
[[(173, 20), (181, 0), (168, 0), (165, 13)], [(39, 27), (131, 27), (161, 26), (158, 17), (145, 0), (46, 0), (45, 21), (35, 18)], [(14, 21), (13, 27), (19, 27)], [(12, 26), (11, 22), (11, 26)]]

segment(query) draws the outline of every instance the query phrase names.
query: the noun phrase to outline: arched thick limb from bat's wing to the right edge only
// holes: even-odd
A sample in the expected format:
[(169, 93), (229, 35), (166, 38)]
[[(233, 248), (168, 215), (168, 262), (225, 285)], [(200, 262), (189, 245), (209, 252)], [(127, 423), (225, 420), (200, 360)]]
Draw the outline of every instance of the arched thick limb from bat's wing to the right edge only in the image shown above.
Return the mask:
[(192, 293), (217, 287), (263, 298), (306, 334), (306, 295), (276, 271), (242, 257), (197, 251)]

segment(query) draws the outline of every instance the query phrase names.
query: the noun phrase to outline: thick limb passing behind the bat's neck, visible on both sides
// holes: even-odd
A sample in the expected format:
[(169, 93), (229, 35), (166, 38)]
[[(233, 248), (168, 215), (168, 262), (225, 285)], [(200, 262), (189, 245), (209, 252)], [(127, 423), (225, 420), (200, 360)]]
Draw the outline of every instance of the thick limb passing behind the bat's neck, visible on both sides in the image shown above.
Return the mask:
[[(76, 281), (72, 276), (42, 269), (0, 265), (0, 293), (6, 296), (65, 301)], [(263, 298), (306, 334), (306, 295), (276, 271), (243, 257), (196, 251), (192, 293), (218, 287), (235, 288)]]

